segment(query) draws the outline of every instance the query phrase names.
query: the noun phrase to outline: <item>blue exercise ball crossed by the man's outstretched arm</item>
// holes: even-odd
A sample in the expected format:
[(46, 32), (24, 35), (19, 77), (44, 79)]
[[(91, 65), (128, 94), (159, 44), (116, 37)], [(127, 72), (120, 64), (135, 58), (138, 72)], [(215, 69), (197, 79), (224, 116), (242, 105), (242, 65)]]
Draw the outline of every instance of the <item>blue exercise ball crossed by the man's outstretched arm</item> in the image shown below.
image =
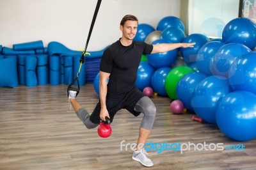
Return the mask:
[[(152, 45), (159, 43), (170, 43), (168, 40), (158, 39), (152, 42)], [(164, 66), (170, 67), (173, 65), (178, 56), (178, 50), (173, 49), (168, 52), (159, 52), (155, 54), (147, 54), (148, 63), (155, 68), (161, 68)]]

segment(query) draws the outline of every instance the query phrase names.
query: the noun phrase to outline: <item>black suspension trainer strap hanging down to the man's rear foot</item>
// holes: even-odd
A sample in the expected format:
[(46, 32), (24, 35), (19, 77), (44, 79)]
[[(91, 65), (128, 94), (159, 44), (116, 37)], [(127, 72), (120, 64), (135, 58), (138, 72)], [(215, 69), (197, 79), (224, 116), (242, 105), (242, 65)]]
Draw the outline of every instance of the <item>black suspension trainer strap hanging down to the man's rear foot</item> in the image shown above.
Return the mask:
[[(88, 46), (88, 43), (90, 41), (90, 37), (92, 35), (92, 29), (93, 29), (93, 26), (95, 24), (95, 20), (97, 18), (97, 14), (99, 12), (99, 8), (100, 8), (100, 3), (101, 3), (101, 0), (98, 0), (97, 2), (97, 6), (95, 8), (95, 12), (93, 14), (93, 19), (92, 19), (92, 24), (91, 24), (91, 27), (90, 27), (90, 31), (88, 33), (88, 37), (87, 37), (87, 41), (86, 41), (86, 44), (85, 44), (85, 47), (84, 47), (84, 50), (83, 50), (83, 53), (82, 53), (82, 56), (80, 58), (80, 65), (79, 65), (79, 69), (77, 71), (77, 75), (76, 75), (76, 78), (68, 85), (68, 89), (67, 89), (67, 93), (69, 90), (74, 90), (74, 91), (77, 91), (76, 95), (78, 95), (79, 93), (79, 90), (80, 90), (80, 86), (79, 86), (79, 80), (78, 80), (78, 77), (79, 77), (79, 73), (80, 73), (80, 70), (82, 68), (82, 65), (84, 63), (84, 57), (86, 54), (90, 54), (89, 52), (86, 52), (86, 49), (87, 49), (87, 46)], [(77, 81), (77, 87), (78, 88), (73, 88), (72, 86), (74, 85), (74, 83)]]

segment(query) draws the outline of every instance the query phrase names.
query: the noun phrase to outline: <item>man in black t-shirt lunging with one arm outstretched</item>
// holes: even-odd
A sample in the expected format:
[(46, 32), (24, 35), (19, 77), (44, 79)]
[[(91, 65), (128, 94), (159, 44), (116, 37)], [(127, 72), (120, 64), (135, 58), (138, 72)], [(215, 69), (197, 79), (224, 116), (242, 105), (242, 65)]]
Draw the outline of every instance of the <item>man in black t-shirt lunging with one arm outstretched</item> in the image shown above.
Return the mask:
[[(120, 22), (122, 38), (113, 43), (104, 51), (100, 61), (99, 102), (92, 114), (76, 101), (76, 91), (69, 91), (68, 99), (77, 116), (87, 128), (95, 128), (100, 120), (110, 121), (120, 109), (138, 116), (143, 112), (143, 120), (140, 125), (140, 135), (137, 141), (137, 150), (132, 159), (143, 166), (153, 166), (153, 162), (147, 158), (147, 152), (138, 148), (146, 143), (156, 116), (156, 107), (153, 102), (135, 86), (138, 66), (142, 54), (167, 52), (179, 47), (193, 47), (195, 43), (162, 43), (149, 45), (145, 42), (134, 42), (138, 27), (138, 19), (133, 15), (125, 15)], [(108, 80), (109, 79), (109, 80)]]

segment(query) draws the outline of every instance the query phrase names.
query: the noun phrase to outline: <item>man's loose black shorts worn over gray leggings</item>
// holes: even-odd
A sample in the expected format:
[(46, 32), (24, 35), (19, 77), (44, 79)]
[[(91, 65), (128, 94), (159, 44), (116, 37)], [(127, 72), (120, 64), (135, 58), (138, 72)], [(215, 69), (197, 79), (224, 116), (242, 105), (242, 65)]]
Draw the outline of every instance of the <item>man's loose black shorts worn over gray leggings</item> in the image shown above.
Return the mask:
[[(145, 97), (144, 93), (136, 87), (132, 88), (129, 93), (124, 95), (124, 97), (111, 98), (107, 96), (106, 106), (109, 112), (110, 121), (113, 121), (116, 112), (120, 109), (127, 109), (127, 111), (131, 112), (134, 116), (139, 116), (141, 112), (134, 111), (134, 107), (142, 97)], [(92, 123), (100, 123), (100, 108), (100, 102), (98, 102), (90, 116), (90, 121), (92, 121)]]

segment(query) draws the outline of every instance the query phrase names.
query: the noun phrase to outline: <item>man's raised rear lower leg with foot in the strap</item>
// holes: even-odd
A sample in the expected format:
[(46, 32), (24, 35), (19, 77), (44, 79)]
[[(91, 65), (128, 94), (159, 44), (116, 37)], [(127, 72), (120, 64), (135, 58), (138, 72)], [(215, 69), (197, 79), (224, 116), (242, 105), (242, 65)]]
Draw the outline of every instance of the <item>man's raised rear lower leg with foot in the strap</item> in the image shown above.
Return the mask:
[(90, 121), (90, 114), (77, 102), (76, 93), (76, 91), (68, 91), (68, 100), (76, 112), (77, 117), (83, 121), (86, 128), (97, 127), (98, 124), (92, 123), (92, 121)]

